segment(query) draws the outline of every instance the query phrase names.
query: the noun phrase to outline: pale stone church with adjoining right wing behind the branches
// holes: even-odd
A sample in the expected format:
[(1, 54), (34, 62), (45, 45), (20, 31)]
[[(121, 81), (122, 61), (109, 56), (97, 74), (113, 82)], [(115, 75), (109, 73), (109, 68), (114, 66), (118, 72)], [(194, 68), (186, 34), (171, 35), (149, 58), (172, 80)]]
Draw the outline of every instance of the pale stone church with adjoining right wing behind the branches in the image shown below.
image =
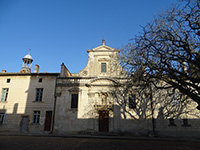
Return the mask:
[(61, 65), (54, 133), (198, 137), (200, 114), (193, 101), (179, 104), (167, 90), (152, 90), (152, 100), (146, 93), (132, 92), (137, 87), (127, 90), (129, 80), (119, 64), (119, 50), (106, 46), (104, 40), (87, 52), (88, 64), (79, 74)]

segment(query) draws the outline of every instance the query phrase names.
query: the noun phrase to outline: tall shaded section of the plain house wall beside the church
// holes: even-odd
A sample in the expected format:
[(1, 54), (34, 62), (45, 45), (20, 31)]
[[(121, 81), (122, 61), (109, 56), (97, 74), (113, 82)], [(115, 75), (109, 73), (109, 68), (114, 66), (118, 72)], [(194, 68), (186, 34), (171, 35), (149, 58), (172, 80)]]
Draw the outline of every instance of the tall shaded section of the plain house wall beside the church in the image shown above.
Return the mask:
[(57, 74), (32, 74), (26, 91), (25, 113), (21, 116), (21, 132), (49, 133), (52, 130)]

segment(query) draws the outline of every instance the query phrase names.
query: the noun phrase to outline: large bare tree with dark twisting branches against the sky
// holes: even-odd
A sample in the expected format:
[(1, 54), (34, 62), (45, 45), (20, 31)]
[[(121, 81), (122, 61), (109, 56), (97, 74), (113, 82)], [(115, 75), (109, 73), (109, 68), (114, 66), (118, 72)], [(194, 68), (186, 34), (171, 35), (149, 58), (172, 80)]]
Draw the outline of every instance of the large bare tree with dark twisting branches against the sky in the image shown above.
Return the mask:
[[(184, 0), (163, 12), (121, 50), (133, 81), (164, 81), (198, 103), (200, 110), (200, 1)], [(157, 86), (156, 84), (154, 86)]]

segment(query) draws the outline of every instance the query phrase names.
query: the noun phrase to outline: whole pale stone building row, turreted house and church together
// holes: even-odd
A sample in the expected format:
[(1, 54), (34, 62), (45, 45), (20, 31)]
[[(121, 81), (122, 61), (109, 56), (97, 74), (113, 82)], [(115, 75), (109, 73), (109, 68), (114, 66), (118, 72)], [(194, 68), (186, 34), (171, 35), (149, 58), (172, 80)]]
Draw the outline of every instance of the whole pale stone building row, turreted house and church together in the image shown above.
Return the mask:
[[(135, 103), (141, 101), (136, 94), (134, 98), (124, 93), (116, 97), (117, 89), (127, 81), (118, 49), (106, 46), (103, 40), (101, 46), (87, 52), (88, 64), (78, 74), (70, 73), (64, 63), (60, 73), (40, 73), (38, 65), (31, 72), (30, 54), (23, 58), (20, 72), (2, 70), (0, 132), (199, 137), (196, 109), (192, 109), (195, 116), (173, 119), (162, 117), (156, 106), (154, 116), (140, 118)], [(119, 99), (123, 97), (127, 102), (122, 104)]]

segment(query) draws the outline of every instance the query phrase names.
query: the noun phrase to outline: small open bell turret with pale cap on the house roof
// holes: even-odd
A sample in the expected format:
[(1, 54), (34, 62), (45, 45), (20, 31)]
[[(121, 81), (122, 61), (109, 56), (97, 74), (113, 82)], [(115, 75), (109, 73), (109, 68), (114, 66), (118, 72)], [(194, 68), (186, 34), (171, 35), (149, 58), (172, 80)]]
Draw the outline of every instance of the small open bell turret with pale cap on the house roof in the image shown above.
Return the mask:
[(20, 70), (21, 73), (31, 73), (31, 65), (33, 62), (33, 59), (30, 55), (30, 53), (28, 53), (26, 56), (24, 56), (24, 58), (22, 58), (23, 60), (23, 65), (22, 65), (22, 69)]

